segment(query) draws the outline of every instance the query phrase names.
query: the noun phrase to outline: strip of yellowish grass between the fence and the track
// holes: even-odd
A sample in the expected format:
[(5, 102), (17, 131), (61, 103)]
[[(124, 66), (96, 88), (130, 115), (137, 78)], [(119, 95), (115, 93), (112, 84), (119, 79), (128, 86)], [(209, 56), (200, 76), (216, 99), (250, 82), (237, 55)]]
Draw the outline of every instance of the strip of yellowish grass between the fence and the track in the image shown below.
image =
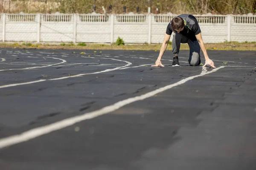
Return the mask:
[[(168, 43), (166, 50), (172, 50), (171, 42)], [(74, 45), (73, 42), (61, 43), (60, 45), (49, 44), (49, 43), (38, 43), (32, 45), (31, 43), (0, 43), (0, 48), (38, 48), (38, 49), (79, 49), (79, 50), (152, 50), (159, 51), (162, 43), (159, 44), (125, 44), (125, 45), (115, 45), (115, 44), (99, 44), (99, 43), (88, 43), (79, 42)], [(222, 43), (206, 43), (205, 47), (207, 51), (209, 50), (240, 50), (240, 51), (256, 51), (256, 42), (222, 42)], [(181, 44), (180, 50), (189, 50), (189, 45)]]

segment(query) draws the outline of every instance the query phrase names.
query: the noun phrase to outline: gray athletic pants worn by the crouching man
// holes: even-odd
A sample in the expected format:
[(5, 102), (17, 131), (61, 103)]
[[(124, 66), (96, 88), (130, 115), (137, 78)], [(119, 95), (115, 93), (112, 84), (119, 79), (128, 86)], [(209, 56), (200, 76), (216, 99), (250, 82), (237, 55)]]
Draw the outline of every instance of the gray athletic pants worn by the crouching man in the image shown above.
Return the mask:
[(188, 43), (189, 45), (189, 64), (191, 66), (200, 65), (200, 45), (198, 41), (192, 41), (180, 33), (174, 33), (172, 39), (172, 52), (173, 56), (176, 57), (180, 51), (180, 43)]

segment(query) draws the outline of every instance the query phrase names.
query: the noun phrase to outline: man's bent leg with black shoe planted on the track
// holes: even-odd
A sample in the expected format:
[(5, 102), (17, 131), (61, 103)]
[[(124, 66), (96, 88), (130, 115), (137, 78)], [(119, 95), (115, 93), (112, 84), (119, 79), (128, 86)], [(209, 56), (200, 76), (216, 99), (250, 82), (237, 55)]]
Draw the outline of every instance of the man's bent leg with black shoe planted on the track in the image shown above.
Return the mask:
[(173, 52), (173, 62), (172, 66), (180, 66), (178, 54), (180, 51), (180, 43), (187, 43), (187, 38), (179, 33), (174, 33), (172, 38), (172, 52)]

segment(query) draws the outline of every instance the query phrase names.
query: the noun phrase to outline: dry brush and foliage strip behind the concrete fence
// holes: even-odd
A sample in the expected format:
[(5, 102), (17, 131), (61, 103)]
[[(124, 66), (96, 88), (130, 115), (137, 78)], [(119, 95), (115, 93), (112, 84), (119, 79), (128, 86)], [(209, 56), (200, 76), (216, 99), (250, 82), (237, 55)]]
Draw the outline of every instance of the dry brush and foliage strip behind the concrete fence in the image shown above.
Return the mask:
[[(47, 3), (46, 3), (47, 2)], [(154, 13), (156, 8), (160, 13), (171, 12), (173, 14), (247, 14), (256, 13), (255, 0), (10, 0), (9, 9), (2, 8), (2, 13), (79, 13), (93, 12), (93, 4), (96, 13), (103, 13), (102, 6), (107, 13), (122, 14), (123, 6), (127, 13), (136, 13), (137, 6), (140, 13), (147, 13), (148, 7)], [(108, 6), (112, 4), (112, 10)]]

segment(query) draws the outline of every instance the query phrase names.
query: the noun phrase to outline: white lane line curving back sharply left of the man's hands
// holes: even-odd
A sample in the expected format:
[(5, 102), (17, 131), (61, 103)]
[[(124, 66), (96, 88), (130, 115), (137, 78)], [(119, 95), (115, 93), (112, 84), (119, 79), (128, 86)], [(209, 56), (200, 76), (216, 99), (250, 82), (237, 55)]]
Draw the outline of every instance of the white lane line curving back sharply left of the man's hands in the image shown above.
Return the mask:
[[(111, 58), (104, 58), (104, 59), (111, 59)], [(77, 75), (74, 75), (74, 76), (60, 77), (60, 78), (56, 78), (56, 79), (40, 79), (40, 80), (38, 80), (38, 81), (32, 81), (32, 82), (24, 82), (24, 83), (16, 83), (16, 84), (2, 85), (2, 86), (0, 86), (0, 88), (8, 88), (8, 87), (18, 86), (18, 85), (27, 85), (27, 84), (32, 84), (32, 83), (36, 83), (36, 82), (46, 81), (46, 80), (47, 80), (47, 81), (53, 81), (53, 80), (60, 80), (60, 79), (68, 79), (68, 78), (71, 78), (71, 77), (81, 77), (81, 76), (88, 75), (88, 74), (104, 73), (104, 72), (108, 72), (108, 71), (118, 70), (119, 68), (124, 68), (124, 67), (127, 67), (127, 66), (129, 66), (129, 65), (132, 64), (131, 62), (124, 61), (124, 60), (119, 60), (119, 59), (113, 59), (113, 60), (126, 62), (127, 65), (124, 65), (124, 66), (122, 66), (122, 67), (116, 67), (116, 68), (112, 68), (112, 69), (107, 69), (107, 70), (104, 70), (104, 71), (98, 71), (98, 72), (94, 72), (94, 73), (77, 74)]]

